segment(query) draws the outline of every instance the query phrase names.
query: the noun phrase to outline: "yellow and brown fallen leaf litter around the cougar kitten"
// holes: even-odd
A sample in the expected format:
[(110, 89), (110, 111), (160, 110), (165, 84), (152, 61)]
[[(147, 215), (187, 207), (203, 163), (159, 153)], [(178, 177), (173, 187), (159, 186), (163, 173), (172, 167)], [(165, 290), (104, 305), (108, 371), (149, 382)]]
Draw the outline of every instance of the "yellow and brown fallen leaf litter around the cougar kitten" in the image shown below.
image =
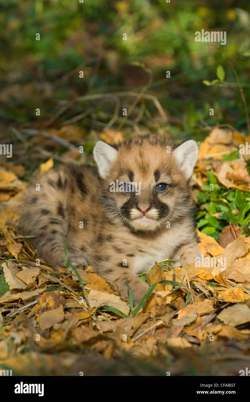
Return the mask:
[[(22, 167), (2, 166), (0, 365), (23, 375), (134, 375), (138, 367), (145, 375), (238, 375), (250, 360), (250, 178), (244, 157), (223, 158), (245, 140), (214, 129), (200, 145), (193, 194), (194, 217), (204, 219), (197, 225), (203, 265), (155, 262), (141, 275), (150, 289), (137, 308), (131, 293), (122, 299), (91, 265), (76, 270), (41, 260), (37, 266), (32, 239), (16, 230)], [(53, 164), (50, 158), (40, 172)]]

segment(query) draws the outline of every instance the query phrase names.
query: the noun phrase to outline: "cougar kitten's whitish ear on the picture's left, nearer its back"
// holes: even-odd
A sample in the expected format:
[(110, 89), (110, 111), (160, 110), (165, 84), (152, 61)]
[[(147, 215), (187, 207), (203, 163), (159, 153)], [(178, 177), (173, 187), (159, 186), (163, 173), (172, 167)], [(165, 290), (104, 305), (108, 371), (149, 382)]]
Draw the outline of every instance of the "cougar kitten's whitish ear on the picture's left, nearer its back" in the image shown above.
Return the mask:
[(117, 159), (118, 151), (103, 141), (97, 141), (93, 155), (97, 163), (99, 175), (102, 178), (106, 178), (110, 173), (112, 164)]

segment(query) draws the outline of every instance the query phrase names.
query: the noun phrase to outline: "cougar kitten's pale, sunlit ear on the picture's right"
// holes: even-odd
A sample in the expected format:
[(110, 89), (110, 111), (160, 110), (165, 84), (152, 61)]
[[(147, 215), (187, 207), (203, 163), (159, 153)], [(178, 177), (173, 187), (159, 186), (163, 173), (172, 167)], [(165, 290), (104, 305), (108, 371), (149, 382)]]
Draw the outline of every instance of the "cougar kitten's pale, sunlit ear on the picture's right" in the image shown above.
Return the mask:
[(173, 151), (173, 155), (186, 178), (192, 176), (198, 152), (198, 146), (193, 139), (183, 142)]

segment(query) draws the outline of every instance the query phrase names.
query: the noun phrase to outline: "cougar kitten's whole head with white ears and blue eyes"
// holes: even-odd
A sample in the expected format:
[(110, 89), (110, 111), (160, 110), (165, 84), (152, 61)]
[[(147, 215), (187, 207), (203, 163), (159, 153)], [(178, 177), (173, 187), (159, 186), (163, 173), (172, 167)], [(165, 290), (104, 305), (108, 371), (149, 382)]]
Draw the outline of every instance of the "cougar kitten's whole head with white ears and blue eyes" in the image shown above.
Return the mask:
[(103, 205), (114, 221), (147, 232), (188, 213), (189, 182), (198, 157), (194, 140), (177, 146), (149, 134), (116, 146), (98, 141), (93, 154), (103, 183)]

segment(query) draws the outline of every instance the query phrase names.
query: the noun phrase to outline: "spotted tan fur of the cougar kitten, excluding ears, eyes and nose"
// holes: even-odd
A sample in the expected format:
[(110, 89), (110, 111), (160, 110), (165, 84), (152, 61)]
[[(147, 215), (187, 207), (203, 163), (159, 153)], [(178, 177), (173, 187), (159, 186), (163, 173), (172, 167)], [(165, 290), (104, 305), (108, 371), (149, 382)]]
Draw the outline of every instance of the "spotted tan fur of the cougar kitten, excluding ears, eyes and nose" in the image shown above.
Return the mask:
[[(148, 285), (136, 274), (149, 271), (155, 261), (178, 258), (186, 265), (199, 255), (189, 216), (192, 197), (169, 141), (137, 136), (116, 148), (118, 157), (104, 179), (90, 166), (61, 166), (38, 177), (27, 189), (19, 227), (37, 236), (38, 257), (48, 263), (62, 265), (65, 238), (69, 263), (91, 262), (123, 297), (128, 297), (128, 278), (137, 304)], [(155, 172), (157, 183), (169, 184), (166, 191), (156, 190)], [(140, 195), (110, 192), (111, 182), (130, 182), (131, 174), (141, 183)], [(146, 218), (136, 205), (151, 206)]]

